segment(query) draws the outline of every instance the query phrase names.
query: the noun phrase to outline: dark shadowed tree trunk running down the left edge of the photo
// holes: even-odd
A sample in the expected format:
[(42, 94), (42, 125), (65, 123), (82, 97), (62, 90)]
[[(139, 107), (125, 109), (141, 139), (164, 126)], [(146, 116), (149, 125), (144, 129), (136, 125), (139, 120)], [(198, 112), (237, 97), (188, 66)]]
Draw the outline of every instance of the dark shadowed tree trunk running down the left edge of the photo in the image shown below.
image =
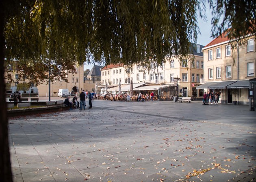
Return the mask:
[(10, 151), (8, 144), (7, 103), (5, 101), (4, 83), (4, 5), (7, 0), (0, 1), (0, 182), (12, 182)]

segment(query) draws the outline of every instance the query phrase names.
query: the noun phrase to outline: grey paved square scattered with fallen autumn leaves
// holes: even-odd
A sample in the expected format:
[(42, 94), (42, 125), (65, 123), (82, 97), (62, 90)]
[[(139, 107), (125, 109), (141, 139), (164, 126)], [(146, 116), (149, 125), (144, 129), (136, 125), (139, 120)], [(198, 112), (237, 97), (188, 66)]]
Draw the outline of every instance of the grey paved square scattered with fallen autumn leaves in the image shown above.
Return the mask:
[(102, 100), (91, 110), (12, 118), (13, 179), (255, 180), (255, 121), (249, 106)]

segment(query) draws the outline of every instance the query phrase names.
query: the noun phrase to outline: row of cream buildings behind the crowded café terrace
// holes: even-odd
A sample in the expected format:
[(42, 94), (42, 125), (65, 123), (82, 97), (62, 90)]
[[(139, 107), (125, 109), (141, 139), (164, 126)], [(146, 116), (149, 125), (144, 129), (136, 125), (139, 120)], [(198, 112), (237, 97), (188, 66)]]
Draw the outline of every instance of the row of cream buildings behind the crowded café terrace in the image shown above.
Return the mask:
[[(203, 91), (197, 90), (196, 86), (202, 83), (204, 79), (204, 62), (201, 52), (203, 47), (199, 44), (193, 44), (191, 47), (193, 54), (188, 55), (181, 64), (178, 57), (166, 57), (163, 66), (151, 63), (150, 70), (136, 64), (131, 69), (124, 68), (123, 64), (104, 66), (101, 70), (102, 93), (105, 93), (106, 84), (108, 90), (110, 89), (109, 91), (116, 91), (117, 89), (111, 88), (117, 87), (119, 82), (121, 85), (128, 85), (132, 80), (133, 84), (137, 84), (137, 86), (158, 85), (155, 87), (157, 89), (162, 87), (161, 85), (175, 86), (175, 96), (201, 97)], [(143, 87), (135, 90), (142, 91), (142, 89)], [(173, 92), (171, 94), (173, 95)]]

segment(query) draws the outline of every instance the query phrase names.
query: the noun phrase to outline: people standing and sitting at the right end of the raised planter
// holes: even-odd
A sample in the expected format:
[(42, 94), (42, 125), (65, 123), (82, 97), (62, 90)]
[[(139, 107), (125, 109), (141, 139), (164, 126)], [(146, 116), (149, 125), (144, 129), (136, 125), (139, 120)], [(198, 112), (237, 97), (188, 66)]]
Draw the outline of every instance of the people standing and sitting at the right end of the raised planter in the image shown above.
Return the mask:
[[(84, 109), (85, 110), (85, 106), (86, 106), (86, 102), (85, 102), (85, 99), (88, 98), (89, 99), (89, 109), (92, 108), (92, 100), (93, 100), (93, 97), (94, 97), (94, 93), (92, 91), (92, 93), (90, 91), (85, 91), (85, 90), (81, 90), (80, 91), (80, 102), (78, 102), (78, 99), (76, 97), (76, 95), (74, 95), (73, 99), (72, 99), (72, 102), (75, 106), (75, 108), (79, 108), (80, 107), (80, 110)], [(64, 104), (65, 106), (69, 107), (69, 110), (72, 110), (72, 102), (69, 102), (69, 99), (70, 97), (68, 96), (65, 101), (64, 101)], [(80, 105), (80, 106), (79, 106)]]

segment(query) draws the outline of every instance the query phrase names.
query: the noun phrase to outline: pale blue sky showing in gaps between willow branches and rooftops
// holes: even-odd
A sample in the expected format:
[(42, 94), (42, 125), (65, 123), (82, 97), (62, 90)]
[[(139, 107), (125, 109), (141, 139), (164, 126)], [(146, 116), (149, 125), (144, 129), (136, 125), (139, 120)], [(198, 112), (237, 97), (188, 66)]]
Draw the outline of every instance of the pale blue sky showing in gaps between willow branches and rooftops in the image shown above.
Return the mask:
[[(212, 28), (212, 25), (211, 25), (212, 15), (209, 8), (209, 4), (206, 5), (206, 17), (207, 18), (204, 20), (198, 16), (198, 20), (197, 20), (199, 31), (201, 32), (201, 34), (197, 35), (197, 44), (200, 44), (203, 46), (207, 45), (213, 40), (213, 38), (210, 37), (211, 28)], [(93, 67), (93, 64), (88, 65), (88, 63), (86, 63), (84, 65), (84, 70), (86, 69), (91, 70), (92, 67)]]

